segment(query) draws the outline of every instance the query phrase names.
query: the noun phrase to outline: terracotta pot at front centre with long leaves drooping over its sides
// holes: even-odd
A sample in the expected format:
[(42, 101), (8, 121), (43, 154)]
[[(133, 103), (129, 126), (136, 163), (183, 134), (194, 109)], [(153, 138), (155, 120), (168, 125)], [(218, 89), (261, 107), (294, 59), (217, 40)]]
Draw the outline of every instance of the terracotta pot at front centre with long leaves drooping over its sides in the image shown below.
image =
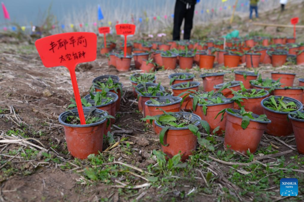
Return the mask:
[[(199, 116), (192, 113), (176, 112), (176, 114), (193, 122), (195, 122), (195, 120), (201, 120)], [(156, 126), (164, 128), (164, 126), (159, 125), (156, 121), (154, 123)], [(196, 126), (199, 124), (198, 121), (194, 123)], [(171, 127), (164, 136), (164, 144), (168, 144), (167, 146), (162, 145), (162, 149), (169, 158), (172, 158), (180, 152), (182, 155), (181, 160), (185, 161), (197, 147), (197, 136), (195, 136), (188, 127)]]

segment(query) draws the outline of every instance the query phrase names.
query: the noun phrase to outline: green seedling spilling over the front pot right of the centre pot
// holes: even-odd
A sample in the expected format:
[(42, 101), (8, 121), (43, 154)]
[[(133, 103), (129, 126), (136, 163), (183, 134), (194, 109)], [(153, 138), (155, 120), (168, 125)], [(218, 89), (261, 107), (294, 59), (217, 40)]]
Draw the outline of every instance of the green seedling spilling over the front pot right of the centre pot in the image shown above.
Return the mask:
[(232, 111), (231, 109), (223, 109), (223, 110), (221, 110), (217, 115), (216, 115), (216, 117), (214, 118), (214, 119), (216, 119), (217, 118), (217, 116), (218, 115), (220, 115), (221, 114), (221, 121), (223, 120), (223, 118), (224, 118), (224, 114), (225, 114), (225, 112), (230, 112), (230, 113), (232, 113), (232, 114), (236, 114), (236, 115), (239, 115), (239, 116), (241, 116), (241, 117), (243, 117), (242, 118), (242, 124), (241, 124), (241, 127), (243, 128), (243, 129), (246, 129), (247, 127), (248, 127), (248, 125), (249, 125), (249, 123), (250, 123), (250, 119), (252, 119), (252, 120), (257, 120), (257, 121), (269, 121), (269, 119), (267, 118), (267, 116), (266, 115), (260, 115), (259, 117), (257, 117), (257, 118), (254, 118), (253, 116), (252, 116), (252, 112), (246, 112), (245, 111), (245, 109), (242, 107), (241, 108), (241, 110), (240, 110), (240, 113), (236, 113), (236, 112), (234, 112), (234, 111)]

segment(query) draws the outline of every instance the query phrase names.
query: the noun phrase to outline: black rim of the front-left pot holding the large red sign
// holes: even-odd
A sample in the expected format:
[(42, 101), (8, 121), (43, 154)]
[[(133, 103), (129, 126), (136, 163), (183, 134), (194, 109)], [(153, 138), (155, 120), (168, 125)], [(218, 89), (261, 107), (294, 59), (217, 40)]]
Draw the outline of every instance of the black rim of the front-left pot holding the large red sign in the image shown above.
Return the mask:
[[(84, 113), (90, 112), (91, 107), (85, 107), (85, 108), (83, 108), (83, 110), (84, 110)], [(73, 109), (73, 110), (70, 110), (70, 111), (67, 111), (67, 112), (63, 112), (58, 117), (59, 123), (61, 123), (63, 126), (72, 127), (72, 128), (85, 128), (85, 127), (97, 126), (97, 125), (100, 125), (100, 124), (102, 124), (102, 123), (104, 123), (106, 121), (106, 119), (102, 119), (102, 120), (100, 120), (97, 123), (91, 123), (91, 124), (86, 124), (86, 125), (67, 124), (67, 123), (65, 123), (63, 121), (63, 117), (67, 116), (67, 115), (72, 115), (71, 112), (73, 112), (74, 114), (78, 115), (78, 110), (77, 109)], [(108, 115), (107, 112), (105, 112), (103, 110), (99, 110), (99, 109), (96, 109), (95, 112), (97, 112), (97, 113), (103, 113), (104, 116)]]

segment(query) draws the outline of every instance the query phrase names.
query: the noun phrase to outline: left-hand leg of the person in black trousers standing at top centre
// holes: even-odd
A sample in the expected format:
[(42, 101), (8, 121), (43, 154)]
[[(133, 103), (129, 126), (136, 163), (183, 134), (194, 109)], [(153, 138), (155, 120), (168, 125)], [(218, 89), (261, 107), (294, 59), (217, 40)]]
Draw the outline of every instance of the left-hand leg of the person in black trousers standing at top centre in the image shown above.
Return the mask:
[(174, 9), (173, 40), (180, 40), (180, 26), (186, 12), (186, 5), (178, 0)]

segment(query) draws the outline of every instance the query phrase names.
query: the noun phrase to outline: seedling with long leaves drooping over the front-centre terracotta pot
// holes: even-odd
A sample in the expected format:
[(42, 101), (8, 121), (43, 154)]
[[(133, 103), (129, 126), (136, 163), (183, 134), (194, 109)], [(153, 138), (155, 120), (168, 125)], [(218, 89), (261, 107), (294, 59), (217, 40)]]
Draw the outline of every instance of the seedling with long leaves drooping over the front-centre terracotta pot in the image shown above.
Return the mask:
[[(195, 136), (198, 137), (199, 144), (201, 144), (202, 146), (206, 147), (209, 150), (214, 151), (214, 147), (211, 145), (211, 143), (207, 139), (201, 138), (201, 133), (199, 131), (199, 128), (196, 125), (194, 125), (196, 122), (200, 122), (200, 125), (205, 129), (206, 133), (210, 135), (210, 126), (208, 122), (204, 120), (195, 120), (193, 122), (192, 120), (188, 120), (184, 117), (177, 116), (177, 114), (175, 113), (165, 112), (164, 110), (162, 111), (164, 112), (163, 115), (158, 115), (153, 117), (146, 116), (146, 118), (141, 119), (142, 121), (149, 120), (151, 124), (153, 123), (153, 121), (156, 121), (159, 125), (165, 126), (160, 132), (160, 142), (162, 145), (167, 146), (164, 144), (164, 136), (171, 127), (173, 128), (188, 127), (188, 129)], [(214, 129), (214, 133), (216, 133), (217, 130), (218, 128)]]

